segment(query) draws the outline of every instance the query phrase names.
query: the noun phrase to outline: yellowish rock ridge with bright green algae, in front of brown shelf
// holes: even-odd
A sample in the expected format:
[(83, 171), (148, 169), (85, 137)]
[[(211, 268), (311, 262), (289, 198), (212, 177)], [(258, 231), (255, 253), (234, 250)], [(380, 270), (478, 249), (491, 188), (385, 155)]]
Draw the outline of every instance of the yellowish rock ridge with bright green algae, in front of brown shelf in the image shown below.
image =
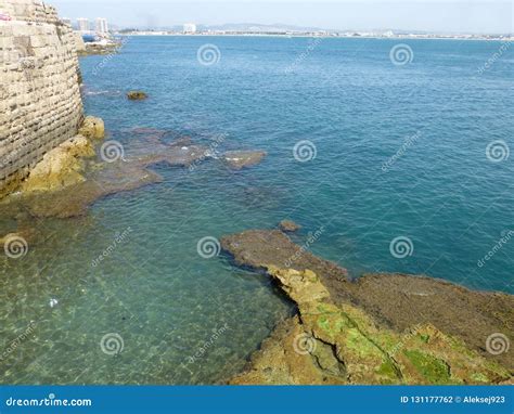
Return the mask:
[(431, 324), (396, 333), (361, 309), (335, 305), (312, 271), (270, 267), (298, 305), (299, 314), (281, 324), (242, 384), (498, 384), (507, 370), (470, 350)]

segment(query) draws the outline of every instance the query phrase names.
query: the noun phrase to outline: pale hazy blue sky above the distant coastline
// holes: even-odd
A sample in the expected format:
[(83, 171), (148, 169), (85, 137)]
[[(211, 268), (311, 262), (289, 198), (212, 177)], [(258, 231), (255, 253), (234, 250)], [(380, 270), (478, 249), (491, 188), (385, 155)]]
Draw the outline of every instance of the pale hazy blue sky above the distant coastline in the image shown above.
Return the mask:
[(391, 28), (511, 33), (514, 0), (47, 0), (65, 17), (107, 17), (120, 26), (260, 23), (334, 29)]

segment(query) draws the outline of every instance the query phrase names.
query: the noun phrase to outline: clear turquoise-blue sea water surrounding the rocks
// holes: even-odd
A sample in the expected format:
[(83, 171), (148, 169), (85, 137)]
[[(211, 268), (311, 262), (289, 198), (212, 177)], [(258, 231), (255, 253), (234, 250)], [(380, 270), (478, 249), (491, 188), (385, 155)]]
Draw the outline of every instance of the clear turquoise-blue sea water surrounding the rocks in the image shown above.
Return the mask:
[[(87, 113), (110, 139), (130, 147), (131, 130), (147, 127), (268, 157), (240, 172), (216, 160), (158, 165), (164, 183), (41, 223), (43, 245), (2, 259), (0, 349), (30, 335), (0, 362), (1, 381), (230, 377), (292, 307), (265, 276), (202, 258), (197, 243), (286, 218), (304, 225), (300, 243), (321, 232), (310, 249), (355, 276), (428, 274), (514, 293), (514, 46), (404, 42), (404, 65), (390, 59), (398, 41), (376, 39), (129, 38), (120, 54), (81, 59)], [(207, 43), (219, 51), (209, 66), (197, 59)], [(131, 89), (150, 99), (127, 101)], [(301, 141), (313, 159), (295, 159)], [(391, 254), (398, 237), (410, 256), (398, 257), (401, 245)], [(120, 353), (102, 350), (105, 335), (121, 338)]]

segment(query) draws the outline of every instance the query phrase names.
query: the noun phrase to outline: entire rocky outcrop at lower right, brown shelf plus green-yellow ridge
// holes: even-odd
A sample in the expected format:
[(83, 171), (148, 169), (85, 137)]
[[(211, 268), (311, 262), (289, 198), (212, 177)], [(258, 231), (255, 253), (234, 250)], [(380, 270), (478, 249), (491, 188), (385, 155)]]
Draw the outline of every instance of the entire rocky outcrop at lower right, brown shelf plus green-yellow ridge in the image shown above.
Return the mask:
[(493, 333), (513, 336), (512, 295), (402, 274), (352, 281), (278, 230), (226, 236), (221, 246), (298, 306), (229, 384), (512, 383), (514, 361), (486, 345)]

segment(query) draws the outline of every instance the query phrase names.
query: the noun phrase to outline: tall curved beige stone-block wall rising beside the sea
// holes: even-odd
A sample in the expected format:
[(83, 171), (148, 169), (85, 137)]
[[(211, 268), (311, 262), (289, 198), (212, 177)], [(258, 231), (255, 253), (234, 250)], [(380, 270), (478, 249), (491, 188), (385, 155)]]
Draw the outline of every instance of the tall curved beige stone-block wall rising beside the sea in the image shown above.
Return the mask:
[(0, 0), (0, 197), (82, 120), (72, 28), (37, 0)]

